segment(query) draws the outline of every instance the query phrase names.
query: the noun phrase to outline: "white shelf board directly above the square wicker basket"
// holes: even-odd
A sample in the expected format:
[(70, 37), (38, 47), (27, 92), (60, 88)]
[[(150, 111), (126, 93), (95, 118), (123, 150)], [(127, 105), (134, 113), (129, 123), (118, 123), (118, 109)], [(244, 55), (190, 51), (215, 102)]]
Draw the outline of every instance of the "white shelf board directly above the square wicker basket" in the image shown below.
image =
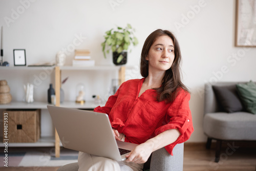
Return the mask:
[(8, 104), (0, 104), (0, 109), (47, 109), (47, 102), (12, 101)]

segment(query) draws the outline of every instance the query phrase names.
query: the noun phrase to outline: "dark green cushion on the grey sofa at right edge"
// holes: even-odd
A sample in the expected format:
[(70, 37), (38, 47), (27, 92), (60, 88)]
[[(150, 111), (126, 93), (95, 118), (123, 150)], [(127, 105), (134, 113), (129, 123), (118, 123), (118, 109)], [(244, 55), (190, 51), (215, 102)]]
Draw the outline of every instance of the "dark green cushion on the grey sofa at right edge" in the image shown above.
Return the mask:
[(252, 81), (236, 84), (239, 96), (247, 112), (256, 114), (256, 84)]

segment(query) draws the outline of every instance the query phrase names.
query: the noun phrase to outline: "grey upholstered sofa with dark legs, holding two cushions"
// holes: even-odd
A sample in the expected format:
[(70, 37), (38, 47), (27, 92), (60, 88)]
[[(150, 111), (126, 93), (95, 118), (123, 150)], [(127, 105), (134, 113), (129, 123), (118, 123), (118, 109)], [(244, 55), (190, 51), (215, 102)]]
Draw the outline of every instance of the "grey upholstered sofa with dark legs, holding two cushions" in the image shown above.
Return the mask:
[(223, 141), (256, 140), (256, 115), (245, 111), (223, 112), (220, 101), (217, 100), (214, 89), (212, 88), (212, 86), (217, 86), (232, 92), (236, 90), (237, 83), (241, 82), (215, 82), (205, 84), (203, 130), (208, 138), (206, 148), (210, 148), (212, 139), (216, 140), (215, 162), (219, 162), (220, 160)]

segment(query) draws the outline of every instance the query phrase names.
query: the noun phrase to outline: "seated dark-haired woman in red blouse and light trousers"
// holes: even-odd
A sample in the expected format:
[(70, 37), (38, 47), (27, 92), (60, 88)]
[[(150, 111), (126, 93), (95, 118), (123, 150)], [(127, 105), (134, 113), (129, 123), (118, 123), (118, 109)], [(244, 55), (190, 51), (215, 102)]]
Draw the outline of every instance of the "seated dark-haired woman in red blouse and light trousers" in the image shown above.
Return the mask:
[(143, 78), (125, 81), (105, 106), (94, 110), (109, 115), (117, 140), (140, 145), (124, 162), (79, 152), (79, 170), (142, 170), (152, 152), (165, 147), (172, 155), (177, 143), (189, 139), (194, 129), (180, 60), (171, 32), (158, 29), (146, 38), (140, 59)]

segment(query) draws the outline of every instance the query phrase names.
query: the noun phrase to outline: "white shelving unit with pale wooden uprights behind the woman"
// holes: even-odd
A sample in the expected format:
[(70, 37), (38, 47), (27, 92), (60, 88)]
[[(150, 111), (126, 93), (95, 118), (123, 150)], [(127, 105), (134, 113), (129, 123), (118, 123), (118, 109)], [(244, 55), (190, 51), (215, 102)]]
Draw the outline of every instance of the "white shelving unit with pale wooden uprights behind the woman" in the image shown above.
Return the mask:
[[(132, 67), (128, 67), (132, 68)], [(93, 67), (72, 67), (72, 66), (63, 66), (63, 67), (0, 67), (0, 71), (8, 72), (14, 70), (45, 70), (45, 69), (53, 69), (55, 70), (55, 95), (56, 95), (56, 106), (65, 106), (66, 108), (74, 108), (74, 109), (94, 109), (96, 106), (103, 106), (105, 102), (102, 104), (95, 103), (94, 101), (86, 101), (84, 104), (79, 104), (73, 101), (65, 101), (60, 103), (60, 80), (61, 80), (61, 71), (117, 71), (119, 72), (119, 84), (124, 82), (125, 77), (125, 67), (123, 66), (93, 66)], [(26, 103), (23, 101), (15, 101), (12, 100), (9, 104), (0, 104), (0, 109), (47, 109), (47, 102), (38, 102), (34, 101), (33, 103)], [(51, 104), (50, 104), (51, 105)], [(47, 147), (47, 146), (55, 146), (55, 157), (59, 157), (60, 155), (60, 146), (61, 142), (59, 141), (59, 137), (55, 130), (55, 137), (40, 137), (40, 139), (35, 143), (8, 143), (10, 147)], [(0, 144), (0, 147), (4, 147), (4, 144)]]

